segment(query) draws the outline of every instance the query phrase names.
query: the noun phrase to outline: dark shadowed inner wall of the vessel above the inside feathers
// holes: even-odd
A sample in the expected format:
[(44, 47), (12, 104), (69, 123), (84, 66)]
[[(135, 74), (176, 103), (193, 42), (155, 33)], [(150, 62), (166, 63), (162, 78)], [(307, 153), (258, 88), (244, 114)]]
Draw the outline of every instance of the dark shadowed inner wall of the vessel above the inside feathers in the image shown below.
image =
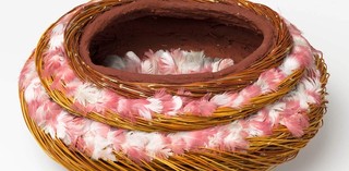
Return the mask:
[(219, 23), (215, 19), (142, 16), (124, 22), (113, 21), (97, 33), (89, 46), (91, 60), (100, 64), (105, 57), (123, 57), (128, 51), (140, 58), (148, 49), (203, 50), (213, 58), (230, 58), (239, 63), (263, 41), (252, 27)]

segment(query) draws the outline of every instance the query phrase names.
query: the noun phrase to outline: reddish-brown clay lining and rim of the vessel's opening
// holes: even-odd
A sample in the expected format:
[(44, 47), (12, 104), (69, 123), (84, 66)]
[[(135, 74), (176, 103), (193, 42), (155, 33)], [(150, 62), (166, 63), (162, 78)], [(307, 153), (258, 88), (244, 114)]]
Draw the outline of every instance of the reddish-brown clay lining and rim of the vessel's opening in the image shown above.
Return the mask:
[[(242, 71), (268, 52), (275, 30), (263, 16), (236, 4), (188, 0), (142, 0), (113, 9), (91, 22), (81, 37), (86, 64), (108, 76), (130, 82), (183, 84), (219, 78)], [(153, 49), (204, 50), (213, 58), (231, 58), (234, 65), (216, 73), (147, 75), (99, 65), (106, 56), (142, 57)]]

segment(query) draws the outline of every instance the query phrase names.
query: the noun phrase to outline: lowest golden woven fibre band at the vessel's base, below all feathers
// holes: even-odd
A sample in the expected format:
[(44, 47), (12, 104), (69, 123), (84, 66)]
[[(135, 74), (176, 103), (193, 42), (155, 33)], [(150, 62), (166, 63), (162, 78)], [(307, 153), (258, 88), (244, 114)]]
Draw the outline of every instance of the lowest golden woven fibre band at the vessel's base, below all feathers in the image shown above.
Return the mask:
[(322, 77), (322, 102), (311, 106), (308, 113), (310, 126), (304, 130), (302, 137), (293, 137), (285, 126), (276, 127), (273, 135), (249, 138), (250, 147), (245, 151), (227, 152), (217, 149), (197, 149), (169, 159), (154, 159), (151, 162), (136, 163), (127, 156), (115, 154), (118, 162), (93, 160), (82, 152), (67, 147), (60, 139), (52, 139), (45, 134), (28, 117), (23, 90), (20, 89), (20, 99), (23, 117), (27, 127), (35, 136), (41, 148), (57, 162), (69, 170), (269, 170), (279, 163), (293, 159), (299, 150), (315, 136), (323, 124), (326, 112), (325, 100), (328, 73), (322, 58), (316, 59), (316, 66)]

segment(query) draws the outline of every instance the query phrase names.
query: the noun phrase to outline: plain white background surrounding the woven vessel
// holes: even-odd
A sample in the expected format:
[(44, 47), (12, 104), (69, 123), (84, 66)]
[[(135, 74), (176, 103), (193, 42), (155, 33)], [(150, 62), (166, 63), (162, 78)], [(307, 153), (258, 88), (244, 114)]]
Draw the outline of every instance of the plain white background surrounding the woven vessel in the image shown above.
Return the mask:
[[(294, 23), (328, 65), (325, 125), (278, 171), (349, 171), (349, 10), (346, 0), (254, 0)], [(36, 144), (20, 110), (17, 78), (44, 30), (86, 0), (2, 1), (0, 10), (0, 170), (62, 171)]]

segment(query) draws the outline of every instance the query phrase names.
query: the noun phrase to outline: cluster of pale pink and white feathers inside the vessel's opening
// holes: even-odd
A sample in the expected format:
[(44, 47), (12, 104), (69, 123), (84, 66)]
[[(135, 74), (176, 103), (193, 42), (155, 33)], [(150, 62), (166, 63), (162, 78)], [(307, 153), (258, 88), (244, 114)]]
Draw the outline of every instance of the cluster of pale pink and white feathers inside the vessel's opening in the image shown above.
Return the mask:
[[(119, 59), (120, 60), (120, 59)], [(220, 59), (219, 61), (205, 57), (203, 51), (185, 51), (180, 49), (148, 50), (141, 60), (129, 51), (124, 58), (128, 72), (139, 72), (143, 74), (191, 74), (204, 72), (217, 72), (233, 64), (231, 59)], [(106, 66), (110, 66), (107, 60)]]

